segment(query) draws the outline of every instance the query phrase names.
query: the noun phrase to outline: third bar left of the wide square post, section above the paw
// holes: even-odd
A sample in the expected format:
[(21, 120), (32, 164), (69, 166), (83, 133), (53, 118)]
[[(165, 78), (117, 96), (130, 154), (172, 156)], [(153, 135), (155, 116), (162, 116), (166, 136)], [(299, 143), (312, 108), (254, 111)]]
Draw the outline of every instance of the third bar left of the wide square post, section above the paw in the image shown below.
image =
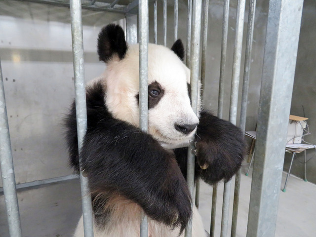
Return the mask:
[(219, 91), (218, 91), (218, 110), (217, 110), (218, 118), (223, 118), (224, 71), (225, 71), (225, 66), (226, 66), (226, 55), (227, 55), (229, 2), (230, 2), (230, 0), (224, 0), (223, 29), (222, 29), (222, 49), (221, 49), (221, 64), (220, 64), (220, 72), (219, 72)]

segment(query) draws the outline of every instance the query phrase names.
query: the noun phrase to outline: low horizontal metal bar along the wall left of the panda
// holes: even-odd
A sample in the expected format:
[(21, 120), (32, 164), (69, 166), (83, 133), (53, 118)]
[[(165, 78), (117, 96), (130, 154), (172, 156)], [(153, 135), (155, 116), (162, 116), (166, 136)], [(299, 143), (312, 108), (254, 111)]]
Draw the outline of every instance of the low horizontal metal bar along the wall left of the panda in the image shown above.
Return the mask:
[[(44, 186), (47, 184), (55, 184), (55, 183), (60, 183), (60, 182), (68, 181), (68, 180), (74, 180), (74, 179), (79, 179), (79, 175), (70, 174), (70, 175), (60, 176), (60, 177), (51, 178), (51, 179), (36, 180), (32, 182), (17, 184), (15, 185), (15, 187), (16, 187), (16, 190), (39, 188), (40, 186)], [(0, 195), (2, 194), (3, 194), (3, 187), (0, 187)]]

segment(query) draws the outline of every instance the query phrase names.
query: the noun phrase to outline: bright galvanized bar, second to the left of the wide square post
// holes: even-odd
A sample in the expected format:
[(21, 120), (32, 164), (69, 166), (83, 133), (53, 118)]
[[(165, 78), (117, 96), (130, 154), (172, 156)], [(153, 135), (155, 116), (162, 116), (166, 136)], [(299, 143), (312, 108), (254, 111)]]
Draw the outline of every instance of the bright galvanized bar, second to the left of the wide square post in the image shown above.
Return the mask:
[[(235, 47), (234, 47), (234, 56), (233, 56), (233, 78), (232, 78), (232, 86), (231, 86), (231, 100), (230, 100), (230, 112), (229, 112), (229, 120), (233, 124), (236, 124), (236, 120), (237, 120), (238, 88), (239, 88), (239, 77), (240, 77), (240, 63), (241, 63), (241, 49), (242, 49), (245, 3), (246, 3), (245, 0), (238, 0), (238, 5), (237, 5), (236, 36), (235, 36)], [(226, 237), (227, 231), (228, 231), (231, 183), (232, 181), (228, 181), (224, 185), (221, 237)]]

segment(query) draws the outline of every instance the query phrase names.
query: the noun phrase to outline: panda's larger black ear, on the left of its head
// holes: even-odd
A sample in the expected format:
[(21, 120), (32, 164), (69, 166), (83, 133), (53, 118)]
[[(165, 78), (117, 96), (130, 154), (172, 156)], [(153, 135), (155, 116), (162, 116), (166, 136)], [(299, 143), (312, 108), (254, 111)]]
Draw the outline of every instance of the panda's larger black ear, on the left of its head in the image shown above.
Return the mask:
[(119, 25), (109, 24), (102, 28), (98, 38), (98, 55), (100, 61), (107, 63), (117, 53), (123, 59), (127, 51), (127, 43), (123, 29)]

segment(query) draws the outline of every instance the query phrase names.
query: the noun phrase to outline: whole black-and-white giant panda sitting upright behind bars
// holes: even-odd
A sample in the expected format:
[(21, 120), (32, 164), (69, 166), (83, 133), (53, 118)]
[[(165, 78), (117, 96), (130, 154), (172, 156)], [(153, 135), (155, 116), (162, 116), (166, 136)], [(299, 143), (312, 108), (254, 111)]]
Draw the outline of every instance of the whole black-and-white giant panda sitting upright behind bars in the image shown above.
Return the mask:
[[(104, 73), (86, 86), (87, 131), (81, 169), (92, 198), (95, 237), (139, 237), (141, 215), (149, 237), (184, 236), (192, 218), (193, 237), (206, 236), (186, 184), (188, 148), (195, 140), (196, 178), (212, 185), (230, 180), (241, 165), (243, 134), (232, 123), (191, 108), (190, 70), (184, 47), (149, 44), (148, 132), (139, 128), (138, 45), (127, 45), (122, 28), (99, 33)], [(65, 118), (70, 163), (79, 172), (76, 107)], [(82, 217), (75, 237), (83, 237)]]

